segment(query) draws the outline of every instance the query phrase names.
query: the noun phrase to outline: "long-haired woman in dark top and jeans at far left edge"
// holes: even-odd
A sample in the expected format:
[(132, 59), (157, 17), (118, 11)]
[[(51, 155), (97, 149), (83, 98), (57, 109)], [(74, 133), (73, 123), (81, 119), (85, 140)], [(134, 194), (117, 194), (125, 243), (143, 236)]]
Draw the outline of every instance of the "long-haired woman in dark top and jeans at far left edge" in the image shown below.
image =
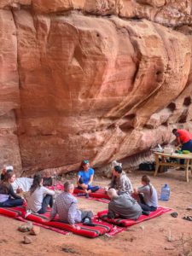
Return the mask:
[(11, 183), (15, 181), (14, 172), (6, 172), (0, 183), (0, 207), (20, 207), (24, 200), (16, 195)]

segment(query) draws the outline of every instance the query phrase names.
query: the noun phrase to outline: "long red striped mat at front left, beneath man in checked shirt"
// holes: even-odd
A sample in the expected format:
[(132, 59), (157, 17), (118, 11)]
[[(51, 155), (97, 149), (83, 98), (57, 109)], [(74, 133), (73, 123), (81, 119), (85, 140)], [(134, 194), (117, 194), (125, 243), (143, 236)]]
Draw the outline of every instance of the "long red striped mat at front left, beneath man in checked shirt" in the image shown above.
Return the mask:
[[(0, 208), (0, 214), (5, 216), (9, 216), (11, 218), (18, 218), (20, 220), (26, 221), (30, 220), (37, 224), (42, 224), (43, 226), (46, 225), (50, 228), (50, 230), (59, 229), (73, 232), (79, 236), (86, 236), (90, 238), (94, 238), (97, 236), (102, 236), (113, 229), (112, 224), (108, 224), (105, 222), (97, 221), (96, 219), (93, 220), (93, 223), (96, 224), (95, 227), (84, 226), (83, 224), (77, 224), (80, 227), (80, 230), (74, 230), (69, 224), (62, 223), (58, 220), (58, 218), (54, 221), (48, 221), (49, 219), (49, 211), (44, 214), (35, 214), (32, 213), (27, 216), (25, 219), (24, 216), (26, 214), (25, 207), (12, 207), (12, 208)], [(56, 230), (55, 230), (56, 231)]]

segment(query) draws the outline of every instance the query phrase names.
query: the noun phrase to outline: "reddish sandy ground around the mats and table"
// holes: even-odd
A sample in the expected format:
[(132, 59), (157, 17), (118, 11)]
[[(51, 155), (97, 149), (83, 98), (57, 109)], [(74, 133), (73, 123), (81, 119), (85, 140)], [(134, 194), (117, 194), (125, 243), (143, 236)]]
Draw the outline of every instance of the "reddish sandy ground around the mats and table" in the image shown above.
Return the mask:
[[(0, 216), (0, 255), (189, 255), (187, 252), (192, 252), (192, 241), (185, 243), (185, 254), (181, 253), (182, 241), (192, 238), (192, 222), (183, 220), (183, 216), (192, 215), (192, 211), (186, 210), (192, 206), (192, 176), (189, 176), (189, 183), (186, 183), (182, 171), (172, 169), (158, 177), (153, 177), (150, 172), (136, 171), (128, 174), (134, 187), (140, 185), (141, 176), (145, 173), (151, 177), (159, 195), (162, 185), (169, 184), (170, 201), (160, 201), (159, 204), (172, 207), (178, 213), (177, 218), (172, 218), (168, 212), (159, 218), (132, 226), (112, 238), (102, 236), (89, 239), (73, 234), (63, 236), (41, 228), (38, 236), (32, 236), (32, 244), (25, 245), (22, 243), (24, 234), (17, 230), (20, 222)], [(108, 182), (108, 179), (96, 177), (96, 183), (103, 187)], [(106, 209), (108, 205), (81, 198), (79, 207), (92, 209), (96, 213)], [(170, 232), (172, 241), (167, 240)], [(66, 249), (69, 249), (68, 253), (65, 252)]]

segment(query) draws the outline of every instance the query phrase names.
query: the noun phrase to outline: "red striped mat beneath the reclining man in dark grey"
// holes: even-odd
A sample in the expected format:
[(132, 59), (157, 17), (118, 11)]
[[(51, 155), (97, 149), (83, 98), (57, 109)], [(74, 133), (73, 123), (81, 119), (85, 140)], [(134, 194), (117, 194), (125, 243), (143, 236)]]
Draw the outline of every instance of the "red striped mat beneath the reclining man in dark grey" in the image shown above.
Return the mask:
[(158, 207), (158, 209), (155, 212), (150, 212), (150, 214), (148, 216), (142, 215), (137, 220), (124, 219), (124, 218), (109, 219), (107, 210), (98, 212), (97, 216), (98, 216), (98, 218), (101, 218), (103, 221), (107, 221), (108, 223), (116, 224), (116, 225), (123, 226), (123, 227), (129, 227), (131, 225), (138, 224), (138, 223), (148, 220), (150, 218), (156, 218), (156, 217), (160, 216), (161, 214), (163, 214), (165, 212), (170, 212), (170, 211), (172, 211), (172, 209), (170, 209), (170, 208)]

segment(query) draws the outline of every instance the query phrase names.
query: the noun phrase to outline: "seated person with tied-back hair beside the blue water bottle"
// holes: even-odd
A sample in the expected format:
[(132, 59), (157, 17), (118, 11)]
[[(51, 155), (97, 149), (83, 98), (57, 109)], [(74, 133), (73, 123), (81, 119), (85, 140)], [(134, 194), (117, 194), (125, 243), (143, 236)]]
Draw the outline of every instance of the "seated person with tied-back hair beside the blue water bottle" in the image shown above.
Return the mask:
[(142, 187), (134, 189), (134, 194), (139, 196), (139, 205), (144, 211), (154, 212), (158, 207), (157, 191), (147, 175), (143, 175), (142, 184)]

